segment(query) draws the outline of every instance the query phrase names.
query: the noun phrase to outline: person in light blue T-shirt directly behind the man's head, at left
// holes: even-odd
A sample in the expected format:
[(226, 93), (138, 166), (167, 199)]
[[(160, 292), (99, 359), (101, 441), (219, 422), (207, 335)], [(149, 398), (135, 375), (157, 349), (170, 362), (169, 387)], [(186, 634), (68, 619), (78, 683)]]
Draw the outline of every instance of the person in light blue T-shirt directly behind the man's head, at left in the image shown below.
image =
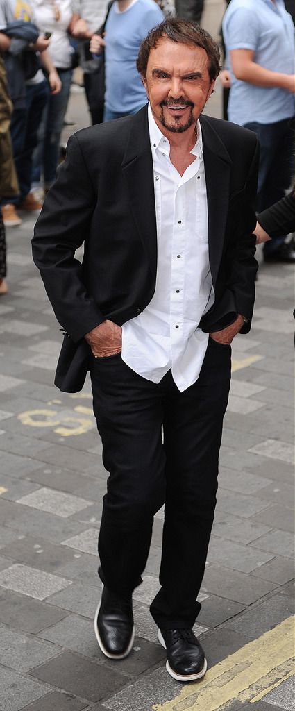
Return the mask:
[(154, 0), (117, 0), (112, 5), (104, 37), (94, 35), (90, 51), (105, 53), (104, 121), (135, 114), (147, 103), (146, 90), (136, 69), (141, 41), (163, 22)]

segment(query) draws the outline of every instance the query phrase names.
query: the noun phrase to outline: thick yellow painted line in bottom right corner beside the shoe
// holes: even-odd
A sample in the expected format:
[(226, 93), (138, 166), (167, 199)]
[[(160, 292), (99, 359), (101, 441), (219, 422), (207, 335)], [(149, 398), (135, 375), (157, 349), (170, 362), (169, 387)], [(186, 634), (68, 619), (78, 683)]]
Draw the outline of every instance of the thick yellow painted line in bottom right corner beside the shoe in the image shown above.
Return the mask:
[(294, 673), (294, 616), (223, 659), (200, 682), (183, 685), (176, 698), (154, 711), (225, 711), (251, 701)]

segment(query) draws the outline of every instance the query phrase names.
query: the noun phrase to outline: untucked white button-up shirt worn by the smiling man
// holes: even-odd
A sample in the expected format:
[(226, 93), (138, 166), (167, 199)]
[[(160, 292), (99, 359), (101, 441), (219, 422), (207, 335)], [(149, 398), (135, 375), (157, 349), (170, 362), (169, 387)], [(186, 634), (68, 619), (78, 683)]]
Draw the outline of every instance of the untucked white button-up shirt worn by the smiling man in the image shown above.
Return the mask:
[[(158, 265), (156, 289), (146, 309), (122, 326), (122, 360), (159, 383), (171, 368), (178, 390), (198, 380), (208, 333), (198, 328), (214, 302), (208, 254), (208, 210), (200, 123), (195, 156), (181, 176), (170, 144), (149, 106), (154, 164)], [(144, 196), (143, 196), (144, 199)]]

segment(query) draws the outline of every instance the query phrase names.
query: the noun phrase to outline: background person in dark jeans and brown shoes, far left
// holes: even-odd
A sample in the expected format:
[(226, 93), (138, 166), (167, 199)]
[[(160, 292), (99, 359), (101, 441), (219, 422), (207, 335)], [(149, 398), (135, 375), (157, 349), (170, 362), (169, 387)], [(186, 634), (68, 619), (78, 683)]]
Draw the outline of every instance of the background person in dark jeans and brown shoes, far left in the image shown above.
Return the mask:
[[(17, 22), (15, 22), (17, 21)], [(31, 45), (30, 39), (19, 45), (19, 23), (35, 28), (37, 39)], [(20, 194), (17, 197), (3, 196), (1, 211), (6, 226), (21, 224), (16, 207), (21, 210), (38, 210), (42, 204), (36, 201), (31, 191), (33, 150), (38, 141), (38, 128), (43, 109), (48, 100), (48, 92), (60, 91), (61, 83), (46, 50), (50, 40), (38, 36), (38, 29), (33, 24), (33, 9), (28, 1), (0, 0), (0, 33), (11, 34), (4, 53), (7, 69), (9, 93), (14, 105), (11, 117), (11, 141), (14, 164), (18, 177)], [(18, 34), (17, 34), (18, 33)], [(6, 38), (7, 38), (6, 34)], [(27, 53), (23, 51), (23, 43)], [(41, 70), (41, 63), (48, 73), (48, 81)], [(26, 60), (31, 58), (29, 67)], [(48, 86), (49, 84), (49, 86)]]

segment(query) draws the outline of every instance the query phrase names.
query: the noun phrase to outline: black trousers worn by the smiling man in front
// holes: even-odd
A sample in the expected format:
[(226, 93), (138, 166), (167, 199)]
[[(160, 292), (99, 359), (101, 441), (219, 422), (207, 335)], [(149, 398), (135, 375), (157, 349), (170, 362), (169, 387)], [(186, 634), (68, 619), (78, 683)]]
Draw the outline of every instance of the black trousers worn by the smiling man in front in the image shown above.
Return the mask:
[(161, 589), (151, 604), (162, 629), (190, 628), (200, 610), (230, 353), (230, 346), (209, 338), (200, 376), (184, 392), (171, 371), (155, 385), (121, 355), (92, 359), (94, 412), (109, 471), (100, 577), (122, 596), (133, 592), (149, 555), (154, 514), (165, 503)]

